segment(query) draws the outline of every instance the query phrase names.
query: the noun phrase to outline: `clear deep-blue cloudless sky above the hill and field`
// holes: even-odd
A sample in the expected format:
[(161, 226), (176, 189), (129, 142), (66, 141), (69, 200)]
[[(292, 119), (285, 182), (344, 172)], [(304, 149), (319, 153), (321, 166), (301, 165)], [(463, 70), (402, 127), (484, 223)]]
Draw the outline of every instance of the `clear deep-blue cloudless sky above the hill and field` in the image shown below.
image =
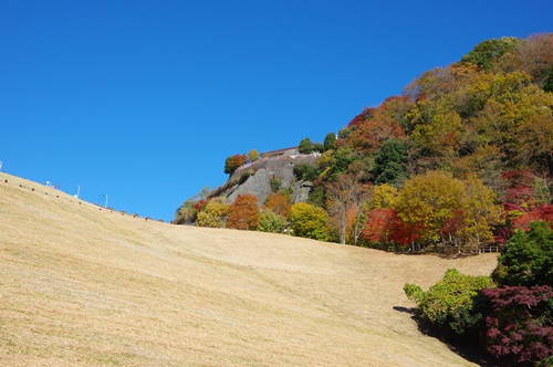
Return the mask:
[(553, 1), (0, 0), (2, 171), (171, 220), (225, 159), (323, 140)]

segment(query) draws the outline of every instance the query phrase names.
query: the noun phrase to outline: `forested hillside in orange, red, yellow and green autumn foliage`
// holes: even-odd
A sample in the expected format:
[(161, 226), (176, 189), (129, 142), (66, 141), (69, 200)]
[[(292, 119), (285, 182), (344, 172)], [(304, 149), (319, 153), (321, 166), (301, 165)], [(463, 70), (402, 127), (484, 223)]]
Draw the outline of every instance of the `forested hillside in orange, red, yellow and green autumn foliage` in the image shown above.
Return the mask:
[[(294, 169), (313, 184), (306, 202), (279, 182), (261, 209), (249, 195), (228, 206), (206, 191), (176, 222), (396, 250), (476, 249), (532, 221), (552, 226), (553, 34), (483, 41), (299, 148), (320, 154)], [(226, 172), (255, 159), (229, 157)]]

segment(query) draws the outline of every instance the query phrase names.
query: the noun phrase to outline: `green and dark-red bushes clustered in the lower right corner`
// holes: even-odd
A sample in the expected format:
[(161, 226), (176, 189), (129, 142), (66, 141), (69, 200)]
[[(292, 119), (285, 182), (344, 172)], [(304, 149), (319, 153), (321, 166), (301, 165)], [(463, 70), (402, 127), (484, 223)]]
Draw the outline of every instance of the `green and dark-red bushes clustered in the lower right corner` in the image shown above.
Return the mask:
[(553, 230), (533, 222), (509, 239), (490, 276), (448, 270), (427, 292), (406, 284), (420, 322), (507, 364), (553, 364)]

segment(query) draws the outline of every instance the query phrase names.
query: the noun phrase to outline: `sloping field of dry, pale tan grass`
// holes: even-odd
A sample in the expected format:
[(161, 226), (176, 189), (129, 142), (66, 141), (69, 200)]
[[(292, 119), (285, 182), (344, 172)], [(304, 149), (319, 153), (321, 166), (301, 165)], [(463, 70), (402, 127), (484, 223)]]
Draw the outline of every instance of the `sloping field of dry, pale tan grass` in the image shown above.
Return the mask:
[(0, 366), (473, 366), (403, 285), (495, 259), (171, 226), (0, 174)]

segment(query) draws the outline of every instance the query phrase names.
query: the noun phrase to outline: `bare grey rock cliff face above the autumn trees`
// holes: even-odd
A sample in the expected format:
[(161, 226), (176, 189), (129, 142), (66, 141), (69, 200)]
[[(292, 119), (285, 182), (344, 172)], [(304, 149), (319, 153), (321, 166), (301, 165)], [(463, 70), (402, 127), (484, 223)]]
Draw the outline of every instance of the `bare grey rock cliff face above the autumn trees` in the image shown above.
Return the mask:
[(240, 181), (242, 175), (250, 175), (241, 184), (230, 185), (217, 196), (222, 197), (227, 203), (231, 203), (239, 195), (251, 193), (263, 205), (271, 195), (271, 180), (279, 180), (281, 188), (292, 188), (292, 202), (305, 202), (313, 185), (309, 181), (298, 181), (294, 176), (294, 167), (299, 164), (314, 165), (315, 155), (300, 155), (295, 149), (276, 157), (261, 158), (251, 165), (241, 167), (230, 178)]

